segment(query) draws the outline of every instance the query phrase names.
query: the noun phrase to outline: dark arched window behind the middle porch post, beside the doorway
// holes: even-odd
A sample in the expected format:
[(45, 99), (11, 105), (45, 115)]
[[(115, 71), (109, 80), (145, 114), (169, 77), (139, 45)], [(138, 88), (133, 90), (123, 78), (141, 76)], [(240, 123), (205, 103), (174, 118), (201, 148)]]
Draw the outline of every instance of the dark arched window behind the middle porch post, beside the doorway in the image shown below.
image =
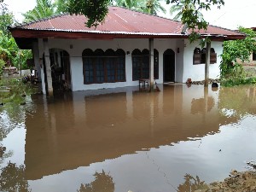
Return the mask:
[[(134, 49), (132, 56), (132, 80), (149, 79), (149, 51)], [(154, 49), (154, 79), (159, 79), (159, 52)]]

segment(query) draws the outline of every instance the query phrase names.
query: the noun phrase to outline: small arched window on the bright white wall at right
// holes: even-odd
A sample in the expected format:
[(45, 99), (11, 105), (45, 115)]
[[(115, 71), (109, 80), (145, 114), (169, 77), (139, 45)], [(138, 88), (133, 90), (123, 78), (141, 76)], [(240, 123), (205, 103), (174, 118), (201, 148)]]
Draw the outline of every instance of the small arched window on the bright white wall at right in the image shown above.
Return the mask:
[[(193, 55), (193, 64), (203, 64), (206, 63), (207, 61), (207, 49), (199, 49), (195, 48), (194, 49), (194, 55)], [(210, 64), (216, 63), (217, 62), (217, 54), (215, 53), (215, 50), (211, 48), (210, 50)]]

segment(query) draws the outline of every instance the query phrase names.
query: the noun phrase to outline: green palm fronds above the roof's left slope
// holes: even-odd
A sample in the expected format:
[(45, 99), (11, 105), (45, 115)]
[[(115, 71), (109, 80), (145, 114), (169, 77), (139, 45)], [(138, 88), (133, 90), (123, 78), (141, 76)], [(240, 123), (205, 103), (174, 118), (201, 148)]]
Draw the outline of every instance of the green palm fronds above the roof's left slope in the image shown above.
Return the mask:
[(31, 22), (52, 15), (55, 15), (55, 6), (50, 0), (37, 0), (37, 6), (23, 14), (25, 22)]

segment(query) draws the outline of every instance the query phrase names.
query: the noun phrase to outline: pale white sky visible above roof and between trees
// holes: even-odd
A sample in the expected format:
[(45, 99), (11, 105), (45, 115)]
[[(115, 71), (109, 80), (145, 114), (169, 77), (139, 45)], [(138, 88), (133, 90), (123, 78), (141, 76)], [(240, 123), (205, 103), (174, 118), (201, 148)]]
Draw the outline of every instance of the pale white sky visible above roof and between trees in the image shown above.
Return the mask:
[[(36, 0), (4, 0), (9, 5), (9, 10), (15, 14), (15, 19), (22, 21), (21, 13), (33, 9)], [(256, 1), (255, 0), (224, 0), (221, 9), (212, 7), (211, 11), (204, 12), (204, 18), (212, 26), (221, 26), (227, 29), (237, 29), (238, 26), (256, 26)], [(165, 4), (165, 8), (170, 6)], [(166, 11), (168, 12), (168, 10)], [(166, 18), (172, 18), (169, 14), (160, 14)]]

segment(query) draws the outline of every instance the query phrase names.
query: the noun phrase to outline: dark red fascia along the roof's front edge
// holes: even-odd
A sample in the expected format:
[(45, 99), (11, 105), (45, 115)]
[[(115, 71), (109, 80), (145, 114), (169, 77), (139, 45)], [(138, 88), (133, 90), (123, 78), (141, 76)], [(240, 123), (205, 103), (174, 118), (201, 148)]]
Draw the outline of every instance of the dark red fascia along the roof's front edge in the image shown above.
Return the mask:
[[(113, 39), (113, 38), (189, 38), (189, 34), (179, 33), (150, 33), (150, 32), (100, 32), (100, 31), (64, 31), (53, 29), (24, 29), (19, 27), (9, 27), (17, 44), (20, 48), (24, 47), (22, 39), (37, 38), (66, 38), (66, 39)], [(214, 41), (226, 41), (243, 39), (245, 35), (219, 35), (219, 34), (201, 34), (201, 38), (209, 37)], [(20, 44), (22, 42), (22, 44)], [(29, 49), (30, 46), (26, 46)]]

